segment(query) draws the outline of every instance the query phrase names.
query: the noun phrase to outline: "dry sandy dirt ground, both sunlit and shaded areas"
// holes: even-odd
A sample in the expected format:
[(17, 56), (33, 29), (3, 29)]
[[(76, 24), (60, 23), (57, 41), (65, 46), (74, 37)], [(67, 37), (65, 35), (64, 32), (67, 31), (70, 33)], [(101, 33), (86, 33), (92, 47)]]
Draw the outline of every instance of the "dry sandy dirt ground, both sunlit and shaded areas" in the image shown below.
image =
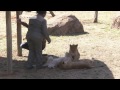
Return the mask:
[[(13, 38), (13, 74), (7, 74), (7, 56), (6, 56), (6, 23), (5, 12), (0, 12), (0, 79), (120, 79), (120, 31), (110, 28), (114, 17), (119, 15), (115, 11), (100, 11), (99, 23), (93, 23), (94, 11), (55, 11), (56, 15), (62, 13), (71, 13), (75, 15), (84, 26), (88, 34), (77, 36), (50, 36), (51, 44), (47, 44), (43, 51), (45, 54), (63, 56), (69, 50), (69, 44), (78, 44), (78, 50), (82, 59), (95, 58), (96, 68), (92, 69), (74, 69), (60, 70), (39, 69), (26, 70), (25, 62), (28, 51), (22, 51), (23, 56), (17, 56), (17, 30), (15, 12), (12, 12), (12, 38)], [(28, 21), (27, 15), (33, 13), (24, 13), (23, 21)], [(52, 18), (48, 13), (46, 19)], [(25, 37), (27, 29), (22, 27), (22, 38)], [(24, 41), (23, 41), (24, 42)], [(101, 66), (102, 67), (99, 67)]]

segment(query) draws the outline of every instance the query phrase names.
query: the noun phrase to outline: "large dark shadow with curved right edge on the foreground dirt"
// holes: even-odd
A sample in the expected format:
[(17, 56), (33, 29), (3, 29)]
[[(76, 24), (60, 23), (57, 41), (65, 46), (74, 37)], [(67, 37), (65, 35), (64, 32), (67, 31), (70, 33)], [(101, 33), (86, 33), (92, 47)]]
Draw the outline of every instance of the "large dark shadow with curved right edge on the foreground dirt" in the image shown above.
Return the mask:
[[(89, 59), (88, 59), (89, 60)], [(94, 60), (95, 68), (92, 69), (31, 69), (25, 68), (26, 61), (13, 60), (13, 74), (8, 75), (7, 58), (0, 57), (1, 79), (114, 79), (110, 69), (104, 62)]]

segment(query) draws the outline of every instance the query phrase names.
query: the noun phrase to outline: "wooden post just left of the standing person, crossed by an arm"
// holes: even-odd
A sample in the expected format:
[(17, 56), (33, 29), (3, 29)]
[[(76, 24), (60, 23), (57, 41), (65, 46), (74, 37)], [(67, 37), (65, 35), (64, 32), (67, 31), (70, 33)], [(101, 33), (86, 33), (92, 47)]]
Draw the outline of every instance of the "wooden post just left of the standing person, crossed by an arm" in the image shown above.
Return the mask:
[[(19, 19), (19, 15), (21, 11), (16, 11), (16, 19)], [(22, 42), (22, 35), (21, 35), (21, 24), (17, 23), (17, 49), (18, 49), (18, 56), (22, 56), (22, 48), (20, 48), (20, 44)]]

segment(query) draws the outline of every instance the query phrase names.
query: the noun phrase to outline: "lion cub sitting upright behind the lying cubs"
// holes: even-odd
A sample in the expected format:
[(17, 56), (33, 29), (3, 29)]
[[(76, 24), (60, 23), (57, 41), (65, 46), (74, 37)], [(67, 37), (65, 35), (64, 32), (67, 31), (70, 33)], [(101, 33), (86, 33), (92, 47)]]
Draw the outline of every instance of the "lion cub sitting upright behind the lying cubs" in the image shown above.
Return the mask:
[(80, 53), (78, 51), (77, 45), (70, 45), (69, 55), (72, 57), (72, 61), (77, 61), (80, 58)]

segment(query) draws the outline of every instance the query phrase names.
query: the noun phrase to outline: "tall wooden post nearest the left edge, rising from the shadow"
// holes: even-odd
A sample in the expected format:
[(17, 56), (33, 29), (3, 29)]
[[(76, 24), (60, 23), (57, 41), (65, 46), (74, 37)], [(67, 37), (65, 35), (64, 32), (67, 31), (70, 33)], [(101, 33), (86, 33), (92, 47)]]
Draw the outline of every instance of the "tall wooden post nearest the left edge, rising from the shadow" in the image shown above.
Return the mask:
[(8, 73), (12, 73), (12, 29), (11, 29), (11, 11), (6, 11), (6, 36), (7, 36), (7, 59)]

